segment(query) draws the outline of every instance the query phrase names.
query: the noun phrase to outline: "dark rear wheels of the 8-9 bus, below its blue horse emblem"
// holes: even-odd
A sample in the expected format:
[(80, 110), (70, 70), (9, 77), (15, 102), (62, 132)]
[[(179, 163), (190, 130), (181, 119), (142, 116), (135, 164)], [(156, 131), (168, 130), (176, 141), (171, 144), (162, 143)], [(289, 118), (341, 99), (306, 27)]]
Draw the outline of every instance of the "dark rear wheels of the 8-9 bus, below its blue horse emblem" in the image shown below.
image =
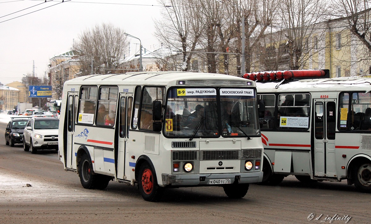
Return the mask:
[(79, 162), (79, 177), (82, 187), (104, 190), (111, 178), (101, 174), (93, 174), (92, 167), (92, 162), (88, 154), (83, 154)]

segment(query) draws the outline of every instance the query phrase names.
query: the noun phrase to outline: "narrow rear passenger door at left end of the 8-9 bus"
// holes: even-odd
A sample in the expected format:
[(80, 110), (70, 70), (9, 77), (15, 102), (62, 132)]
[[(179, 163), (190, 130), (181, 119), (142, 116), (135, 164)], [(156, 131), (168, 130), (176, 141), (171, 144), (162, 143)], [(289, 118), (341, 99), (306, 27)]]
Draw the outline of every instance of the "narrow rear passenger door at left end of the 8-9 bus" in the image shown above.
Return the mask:
[[(65, 151), (66, 167), (76, 169), (76, 156), (73, 150), (73, 135), (75, 134), (75, 122), (77, 105), (79, 102), (79, 96), (76, 92), (68, 93), (68, 111), (65, 114), (65, 119), (67, 119), (67, 148)], [(61, 108), (62, 109), (62, 108)], [(65, 127), (66, 128), (66, 127)]]

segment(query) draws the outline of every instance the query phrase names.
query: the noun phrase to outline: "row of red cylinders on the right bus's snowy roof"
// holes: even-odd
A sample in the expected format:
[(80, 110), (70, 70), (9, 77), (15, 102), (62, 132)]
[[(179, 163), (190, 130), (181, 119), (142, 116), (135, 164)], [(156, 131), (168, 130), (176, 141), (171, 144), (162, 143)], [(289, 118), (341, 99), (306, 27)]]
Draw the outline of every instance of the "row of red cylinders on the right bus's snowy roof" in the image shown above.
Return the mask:
[(308, 79), (308, 78), (329, 78), (329, 70), (286, 70), (286, 71), (267, 71), (267, 72), (251, 72), (243, 75), (243, 78), (253, 81), (275, 81)]

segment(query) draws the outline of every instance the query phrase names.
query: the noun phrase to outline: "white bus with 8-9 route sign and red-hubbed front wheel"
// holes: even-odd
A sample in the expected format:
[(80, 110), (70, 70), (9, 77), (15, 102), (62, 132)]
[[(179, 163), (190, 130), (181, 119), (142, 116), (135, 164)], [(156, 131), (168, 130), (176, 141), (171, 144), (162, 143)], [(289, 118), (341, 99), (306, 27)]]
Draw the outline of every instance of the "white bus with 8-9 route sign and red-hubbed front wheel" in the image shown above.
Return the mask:
[(144, 200), (158, 201), (164, 188), (220, 186), (242, 198), (263, 178), (264, 105), (258, 110), (253, 81), (191, 72), (89, 75), (67, 81), (62, 99), (59, 158), (84, 188), (138, 184)]

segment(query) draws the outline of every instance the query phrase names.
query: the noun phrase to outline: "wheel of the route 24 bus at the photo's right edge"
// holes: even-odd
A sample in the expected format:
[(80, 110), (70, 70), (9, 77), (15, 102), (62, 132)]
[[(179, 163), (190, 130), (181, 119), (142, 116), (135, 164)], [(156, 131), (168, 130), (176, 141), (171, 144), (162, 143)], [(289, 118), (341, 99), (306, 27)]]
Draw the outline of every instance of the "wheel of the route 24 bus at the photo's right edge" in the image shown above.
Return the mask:
[(353, 170), (353, 182), (359, 191), (371, 193), (371, 163), (370, 161), (362, 162), (359, 167)]

